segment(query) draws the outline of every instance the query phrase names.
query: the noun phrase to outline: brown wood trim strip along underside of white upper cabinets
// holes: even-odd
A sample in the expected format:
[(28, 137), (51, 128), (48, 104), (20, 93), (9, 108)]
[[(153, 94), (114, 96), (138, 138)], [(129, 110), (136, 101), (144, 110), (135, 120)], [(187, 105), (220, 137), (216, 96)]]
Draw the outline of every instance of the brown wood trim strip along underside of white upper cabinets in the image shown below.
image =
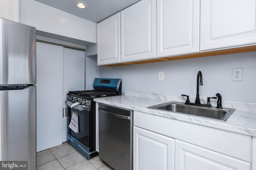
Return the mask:
[(246, 47), (237, 47), (232, 49), (222, 49), (216, 51), (206, 51), (200, 53), (193, 53), (187, 55), (178, 55), (178, 56), (171, 56), (171, 57), (164, 57), (158, 59), (149, 59), (149, 60), (141, 60), (141, 61), (134, 61), (128, 63), (117, 63), (117, 64), (109, 64), (104, 66), (124, 66), (130, 64), (145, 64), (145, 63), (155, 63), (160, 61), (172, 61), (172, 60), (181, 60), (181, 59), (192, 59), (198, 57), (209, 57), (209, 56), (216, 56), (216, 55), (227, 55), (227, 54), (235, 54), (235, 53), (245, 53), (245, 52), (252, 52), (256, 51), (256, 45), (246, 46)]

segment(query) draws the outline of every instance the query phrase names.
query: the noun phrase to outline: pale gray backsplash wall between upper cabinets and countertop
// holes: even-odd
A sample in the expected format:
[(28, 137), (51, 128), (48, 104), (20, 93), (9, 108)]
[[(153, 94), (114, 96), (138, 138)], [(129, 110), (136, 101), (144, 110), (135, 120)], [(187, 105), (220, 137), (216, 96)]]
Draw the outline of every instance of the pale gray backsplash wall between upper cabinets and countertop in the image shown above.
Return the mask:
[[(232, 81), (232, 68), (243, 68), (243, 81)], [(256, 52), (165, 61), (129, 66), (100, 66), (101, 78), (122, 78), (122, 91), (196, 96), (196, 76), (202, 71), (200, 97), (256, 102)], [(164, 71), (164, 80), (158, 80)]]

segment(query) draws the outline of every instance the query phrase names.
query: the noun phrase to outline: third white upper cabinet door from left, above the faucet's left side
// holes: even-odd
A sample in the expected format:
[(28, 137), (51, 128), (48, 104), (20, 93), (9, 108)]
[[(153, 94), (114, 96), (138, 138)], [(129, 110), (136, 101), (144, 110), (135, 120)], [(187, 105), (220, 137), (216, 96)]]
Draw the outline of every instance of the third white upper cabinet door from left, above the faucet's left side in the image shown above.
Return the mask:
[(200, 0), (157, 1), (157, 57), (199, 51)]

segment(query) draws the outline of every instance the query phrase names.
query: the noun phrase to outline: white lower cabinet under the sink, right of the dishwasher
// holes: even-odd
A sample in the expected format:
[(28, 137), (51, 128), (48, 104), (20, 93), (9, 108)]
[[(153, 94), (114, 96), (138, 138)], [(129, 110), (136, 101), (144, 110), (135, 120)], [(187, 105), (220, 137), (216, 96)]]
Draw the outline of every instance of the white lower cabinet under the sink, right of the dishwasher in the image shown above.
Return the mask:
[(256, 170), (256, 138), (139, 111), (133, 118), (134, 170)]

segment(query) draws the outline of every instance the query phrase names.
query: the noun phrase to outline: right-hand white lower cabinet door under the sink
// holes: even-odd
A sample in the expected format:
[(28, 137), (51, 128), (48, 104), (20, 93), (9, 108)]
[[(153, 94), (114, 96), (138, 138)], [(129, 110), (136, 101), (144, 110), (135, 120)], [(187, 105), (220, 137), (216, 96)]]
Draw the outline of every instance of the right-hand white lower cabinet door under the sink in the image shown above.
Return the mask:
[(176, 170), (250, 170), (251, 164), (175, 140)]

